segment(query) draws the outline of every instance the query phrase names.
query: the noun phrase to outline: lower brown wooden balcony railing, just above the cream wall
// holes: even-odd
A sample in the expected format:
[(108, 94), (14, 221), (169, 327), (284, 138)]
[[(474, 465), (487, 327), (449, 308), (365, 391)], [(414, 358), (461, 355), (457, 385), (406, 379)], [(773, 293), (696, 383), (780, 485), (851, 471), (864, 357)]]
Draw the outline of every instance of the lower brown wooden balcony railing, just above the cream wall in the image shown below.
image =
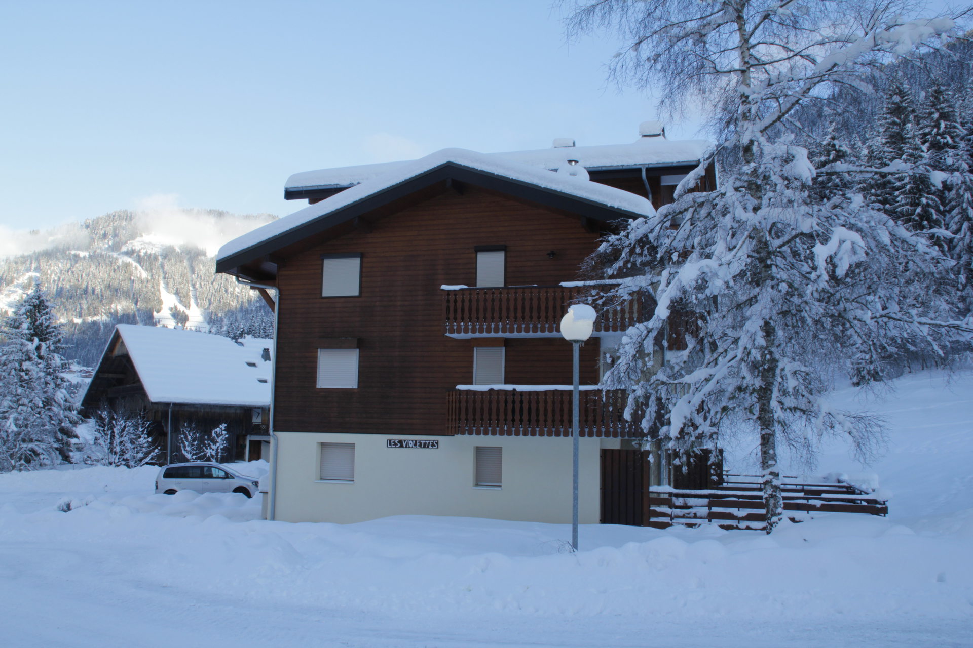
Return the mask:
[[(524, 386), (523, 389), (529, 389)], [(586, 389), (580, 394), (581, 436), (635, 438), (637, 423), (626, 421), (626, 394), (621, 390)], [(451, 434), (570, 436), (570, 388), (543, 391), (455, 390), (449, 395)]]

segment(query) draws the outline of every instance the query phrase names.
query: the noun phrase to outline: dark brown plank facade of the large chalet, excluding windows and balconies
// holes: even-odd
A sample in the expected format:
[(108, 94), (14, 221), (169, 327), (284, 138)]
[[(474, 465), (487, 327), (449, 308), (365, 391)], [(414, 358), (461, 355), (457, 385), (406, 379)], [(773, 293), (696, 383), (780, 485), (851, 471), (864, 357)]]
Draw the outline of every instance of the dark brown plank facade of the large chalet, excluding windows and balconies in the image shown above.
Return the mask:
[[(321, 238), (326, 238), (322, 236)], [(338, 238), (278, 257), (280, 289), (274, 426), (282, 431), (445, 434), (448, 397), (473, 378), (473, 347), (506, 347), (505, 382), (568, 384), (562, 339), (452, 339), (442, 285), (475, 285), (477, 246), (506, 246), (506, 284), (576, 278), (598, 232), (566, 214), (466, 186), (360, 222)], [(554, 252), (555, 255), (549, 256)], [(321, 255), (361, 253), (361, 294), (321, 297)], [(315, 387), (320, 340), (355, 338), (358, 388)], [(487, 338), (489, 339), (489, 338)], [(582, 383), (598, 380), (598, 347), (582, 349)]]

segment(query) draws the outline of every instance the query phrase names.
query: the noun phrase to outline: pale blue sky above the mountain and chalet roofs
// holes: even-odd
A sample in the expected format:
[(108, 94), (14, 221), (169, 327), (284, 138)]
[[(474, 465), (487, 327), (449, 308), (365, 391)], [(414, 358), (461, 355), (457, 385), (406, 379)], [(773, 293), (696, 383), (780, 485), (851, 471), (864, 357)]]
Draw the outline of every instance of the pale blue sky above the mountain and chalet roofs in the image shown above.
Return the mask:
[(628, 142), (655, 111), (606, 84), (613, 51), (549, 0), (4, 2), (0, 225), (284, 215), (296, 171)]

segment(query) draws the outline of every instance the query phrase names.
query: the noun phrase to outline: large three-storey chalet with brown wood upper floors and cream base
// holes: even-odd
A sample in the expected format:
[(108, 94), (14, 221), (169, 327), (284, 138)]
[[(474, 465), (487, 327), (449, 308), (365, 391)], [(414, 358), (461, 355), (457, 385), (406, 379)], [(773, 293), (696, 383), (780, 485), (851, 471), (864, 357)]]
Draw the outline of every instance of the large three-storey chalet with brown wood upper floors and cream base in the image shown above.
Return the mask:
[[(559, 321), (589, 290), (579, 266), (616, 222), (670, 202), (707, 147), (667, 140), (658, 122), (640, 131), (625, 145), (299, 173), (285, 197), (308, 207), (221, 249), (217, 271), (279, 290), (276, 519), (570, 521)], [(708, 169), (698, 187), (714, 182)], [(598, 388), (646, 308), (600, 313), (582, 349), (584, 524), (645, 524), (650, 483), (711, 481), (705, 462), (673, 470), (623, 418), (624, 394)]]

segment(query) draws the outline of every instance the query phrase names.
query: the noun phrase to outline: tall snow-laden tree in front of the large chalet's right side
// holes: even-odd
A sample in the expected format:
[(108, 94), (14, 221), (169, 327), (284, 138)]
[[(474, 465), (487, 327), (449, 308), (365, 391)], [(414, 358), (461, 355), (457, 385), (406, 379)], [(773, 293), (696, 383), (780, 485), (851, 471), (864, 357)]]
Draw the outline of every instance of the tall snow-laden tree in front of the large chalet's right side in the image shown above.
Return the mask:
[[(670, 450), (758, 439), (767, 529), (782, 518), (777, 451), (811, 451), (826, 433), (860, 456), (881, 442), (874, 419), (830, 409), (831, 371), (882, 379), (901, 353), (934, 355), (955, 330), (946, 259), (858, 195), (811, 195), (806, 149), (783, 131), (794, 111), (835, 85), (860, 86), (882, 56), (953, 27), (903, 21), (893, 2), (602, 0), (574, 29), (611, 26), (625, 39), (616, 78), (653, 86), (662, 106), (712, 106), (718, 146), (676, 200), (610, 237), (598, 255), (620, 281), (605, 302), (654, 301), (627, 331), (605, 386), (629, 392), (627, 413)], [(888, 154), (892, 154), (891, 151)], [(722, 162), (718, 187), (692, 192)], [(908, 262), (906, 262), (908, 260)], [(621, 278), (621, 279), (619, 279)], [(660, 341), (678, 322), (686, 349)]]

